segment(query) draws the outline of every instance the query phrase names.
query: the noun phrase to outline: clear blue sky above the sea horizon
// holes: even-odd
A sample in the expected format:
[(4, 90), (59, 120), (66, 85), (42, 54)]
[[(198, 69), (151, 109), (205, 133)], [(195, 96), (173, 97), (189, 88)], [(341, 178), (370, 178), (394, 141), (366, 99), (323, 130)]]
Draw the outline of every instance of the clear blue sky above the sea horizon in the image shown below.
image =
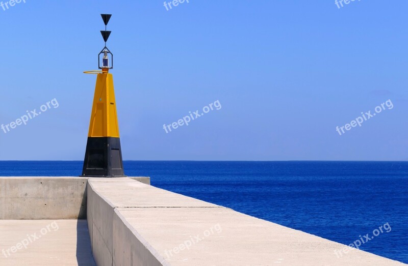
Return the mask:
[(84, 159), (100, 13), (124, 160), (408, 159), (406, 1), (26, 2), (0, 8), (0, 124), (59, 107), (0, 131), (0, 160)]

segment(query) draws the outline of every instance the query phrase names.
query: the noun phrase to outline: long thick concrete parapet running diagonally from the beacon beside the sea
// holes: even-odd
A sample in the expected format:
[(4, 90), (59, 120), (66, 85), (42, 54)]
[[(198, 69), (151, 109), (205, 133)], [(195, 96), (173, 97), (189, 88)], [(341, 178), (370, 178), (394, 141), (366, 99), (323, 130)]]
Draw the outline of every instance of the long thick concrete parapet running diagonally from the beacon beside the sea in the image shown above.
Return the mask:
[(126, 178), (89, 179), (98, 265), (404, 265)]

